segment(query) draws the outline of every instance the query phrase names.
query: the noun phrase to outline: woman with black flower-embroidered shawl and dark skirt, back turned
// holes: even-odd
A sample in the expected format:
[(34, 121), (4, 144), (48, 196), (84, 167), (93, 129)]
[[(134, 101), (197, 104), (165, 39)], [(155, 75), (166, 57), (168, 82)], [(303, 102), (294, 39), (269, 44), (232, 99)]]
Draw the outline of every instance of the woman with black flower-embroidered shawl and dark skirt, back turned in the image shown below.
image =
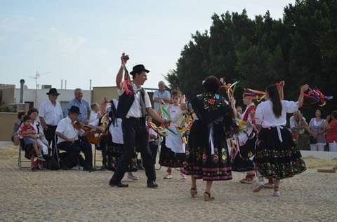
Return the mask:
[(232, 179), (230, 157), (226, 139), (234, 130), (234, 111), (224, 97), (218, 95), (220, 81), (209, 76), (203, 83), (205, 92), (191, 99), (197, 116), (190, 130), (186, 148), (185, 172), (191, 175), (192, 197), (197, 195), (197, 179), (206, 181), (204, 200), (211, 197), (213, 181)]

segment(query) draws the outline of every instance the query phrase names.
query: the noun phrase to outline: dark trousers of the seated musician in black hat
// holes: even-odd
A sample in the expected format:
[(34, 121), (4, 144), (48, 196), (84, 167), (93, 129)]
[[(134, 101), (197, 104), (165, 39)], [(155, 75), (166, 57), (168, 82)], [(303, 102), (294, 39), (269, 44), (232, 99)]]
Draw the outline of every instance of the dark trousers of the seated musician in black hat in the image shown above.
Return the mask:
[[(89, 144), (90, 149), (91, 145)], [(79, 158), (79, 153), (82, 151), (87, 151), (88, 150), (88, 144), (83, 143), (80, 140), (76, 140), (73, 144), (70, 143), (69, 141), (63, 141), (58, 144), (58, 148), (61, 151), (66, 151), (67, 155), (63, 156), (61, 159), (61, 167), (64, 168), (72, 168), (76, 166), (78, 163), (81, 165), (81, 167), (84, 167), (84, 169), (91, 169), (91, 165), (88, 164), (88, 161), (81, 161), (81, 158)], [(88, 153), (88, 152), (86, 152)], [(84, 153), (84, 156), (87, 157)], [(91, 157), (92, 157), (92, 152), (91, 152)], [(91, 161), (92, 164), (92, 161)]]

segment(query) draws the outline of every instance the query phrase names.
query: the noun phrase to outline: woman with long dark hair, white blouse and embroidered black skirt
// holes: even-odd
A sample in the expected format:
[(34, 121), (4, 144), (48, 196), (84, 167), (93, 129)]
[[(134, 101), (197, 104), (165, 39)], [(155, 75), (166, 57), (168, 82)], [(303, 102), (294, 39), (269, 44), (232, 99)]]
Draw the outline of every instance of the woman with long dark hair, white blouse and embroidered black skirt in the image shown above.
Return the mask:
[(298, 102), (281, 100), (277, 85), (265, 90), (265, 102), (258, 104), (256, 123), (262, 126), (258, 132), (258, 146), (254, 163), (259, 178), (254, 192), (263, 188), (263, 177), (274, 179), (274, 196), (279, 197), (279, 182), (305, 171), (305, 162), (296, 148), (291, 131), (285, 127), (286, 113), (293, 113), (303, 105), (303, 93), (308, 85), (300, 89)]

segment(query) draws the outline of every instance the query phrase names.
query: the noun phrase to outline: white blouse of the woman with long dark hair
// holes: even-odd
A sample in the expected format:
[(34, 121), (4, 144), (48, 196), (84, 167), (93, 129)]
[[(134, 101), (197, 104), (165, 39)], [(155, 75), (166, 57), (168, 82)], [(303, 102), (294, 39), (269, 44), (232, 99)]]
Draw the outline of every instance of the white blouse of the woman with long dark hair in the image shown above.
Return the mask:
[(293, 113), (298, 110), (298, 103), (293, 101), (282, 100), (281, 116), (277, 118), (272, 111), (272, 102), (267, 100), (258, 104), (255, 117), (256, 123), (264, 128), (277, 127), (286, 125), (286, 113)]

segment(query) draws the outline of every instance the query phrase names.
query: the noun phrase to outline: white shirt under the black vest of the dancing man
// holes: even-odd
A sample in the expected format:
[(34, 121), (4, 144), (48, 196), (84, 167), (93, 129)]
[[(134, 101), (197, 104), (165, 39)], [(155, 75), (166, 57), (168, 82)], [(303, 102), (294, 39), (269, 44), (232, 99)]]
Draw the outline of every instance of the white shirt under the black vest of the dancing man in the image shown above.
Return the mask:
[[(131, 105), (130, 110), (126, 114), (126, 118), (130, 118), (130, 117), (140, 118), (142, 117), (142, 107), (140, 106), (140, 98), (142, 97), (142, 95), (140, 94), (138, 90), (140, 90), (142, 87), (137, 88), (136, 84), (132, 84), (132, 87), (135, 90), (136, 95), (135, 95), (135, 100), (133, 101), (133, 104)], [(125, 90), (117, 89), (117, 91), (118, 91), (118, 95), (123, 95)], [(145, 92), (145, 95), (144, 95), (145, 108), (150, 108), (152, 107), (150, 97), (147, 94), (146, 90), (144, 90), (144, 92)]]

